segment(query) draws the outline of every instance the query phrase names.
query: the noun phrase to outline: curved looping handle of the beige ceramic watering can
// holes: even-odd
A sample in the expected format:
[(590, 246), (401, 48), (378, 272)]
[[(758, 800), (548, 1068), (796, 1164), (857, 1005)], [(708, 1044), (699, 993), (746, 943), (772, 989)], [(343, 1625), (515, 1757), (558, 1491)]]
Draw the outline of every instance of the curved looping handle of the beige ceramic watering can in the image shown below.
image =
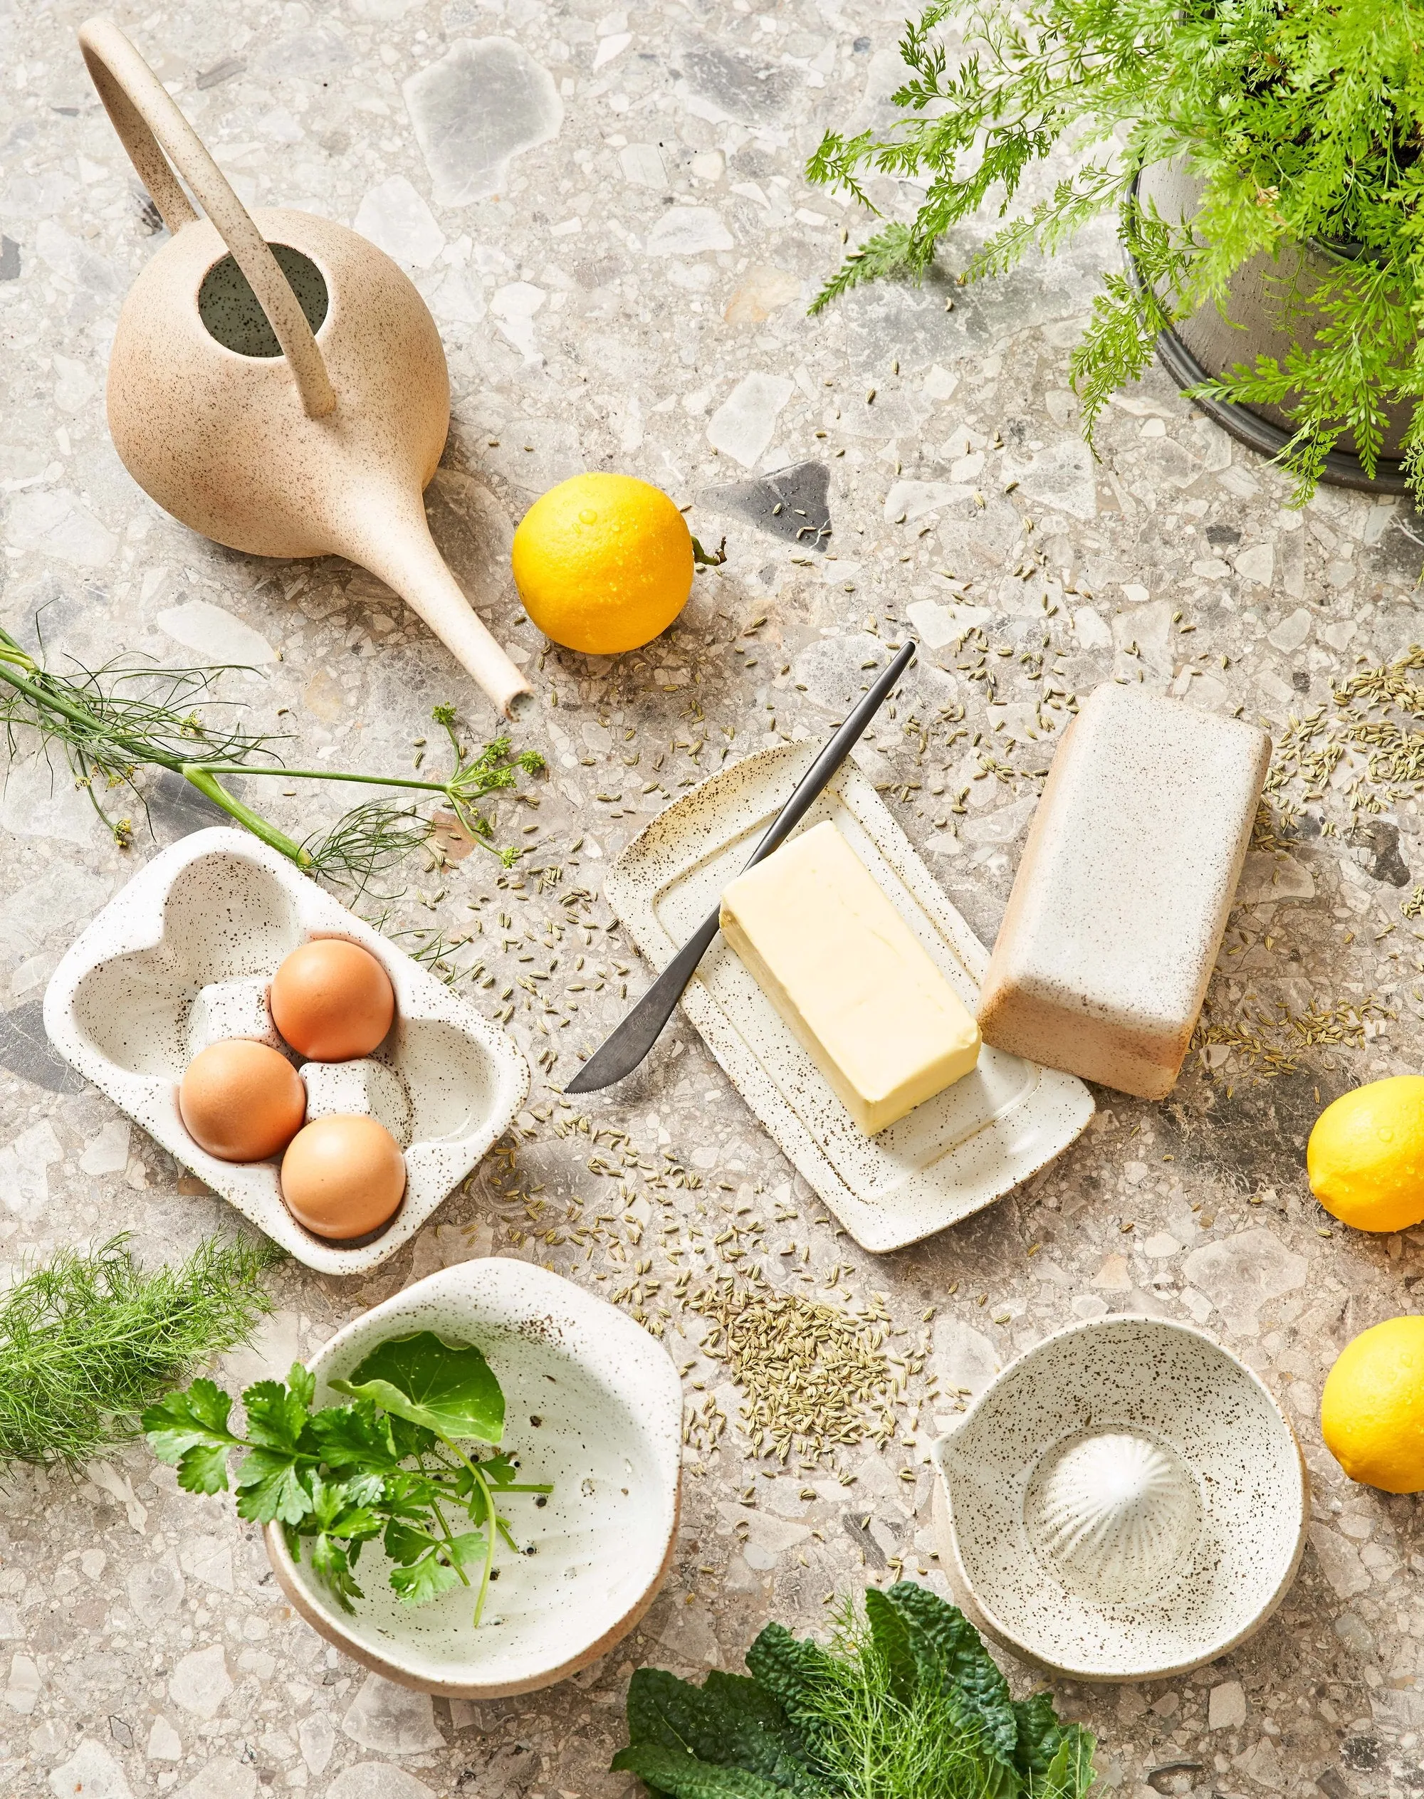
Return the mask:
[(178, 232), (198, 218), (178, 180), (182, 175), (266, 313), (292, 369), (306, 416), (324, 419), (335, 408), (337, 394), (311, 335), (311, 326), (306, 322), (306, 313), (277, 266), (272, 246), (252, 223), (252, 214), (232, 192), (227, 176), (207, 153), (203, 140), (112, 20), (92, 18), (81, 25), (79, 49), (85, 52), (85, 63), (99, 90), (99, 99), (104, 103), (104, 112), (139, 171), (139, 178), (153, 196), (164, 225), (171, 232)]

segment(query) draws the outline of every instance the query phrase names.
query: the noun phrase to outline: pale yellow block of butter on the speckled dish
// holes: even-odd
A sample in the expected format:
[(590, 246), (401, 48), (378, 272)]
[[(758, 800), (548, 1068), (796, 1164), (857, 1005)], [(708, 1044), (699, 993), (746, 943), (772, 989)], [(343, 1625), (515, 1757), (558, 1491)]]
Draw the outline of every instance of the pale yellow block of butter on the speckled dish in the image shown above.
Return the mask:
[(736, 876), (722, 934), (868, 1137), (979, 1060), (979, 1027), (830, 822)]

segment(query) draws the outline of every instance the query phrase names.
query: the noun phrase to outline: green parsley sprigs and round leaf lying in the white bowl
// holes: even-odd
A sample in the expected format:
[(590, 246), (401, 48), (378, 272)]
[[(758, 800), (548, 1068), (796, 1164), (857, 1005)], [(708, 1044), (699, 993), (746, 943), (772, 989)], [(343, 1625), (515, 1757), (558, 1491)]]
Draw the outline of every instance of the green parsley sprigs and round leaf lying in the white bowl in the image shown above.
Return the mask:
[[(409, 1605), (470, 1587), (470, 1571), (479, 1571), (479, 1624), (495, 1542), (518, 1547), (495, 1493), (553, 1491), (518, 1482), (508, 1454), (472, 1461), (459, 1448), (461, 1439), (497, 1443), (504, 1434), (504, 1394), (490, 1364), (472, 1344), (418, 1331), (378, 1344), (349, 1380), (331, 1385), (355, 1403), (313, 1412), (315, 1382), (301, 1362), (286, 1383), (256, 1382), (243, 1392), (241, 1436), (230, 1396), (194, 1380), (144, 1412), (144, 1432), (189, 1493), (225, 1493), (229, 1455), (245, 1450), (238, 1515), (281, 1524), (297, 1560), (308, 1540), (311, 1567), (342, 1610), (362, 1598), (362, 1547), (380, 1538), (391, 1587)], [(472, 1529), (450, 1527), (448, 1515), (459, 1513)]]

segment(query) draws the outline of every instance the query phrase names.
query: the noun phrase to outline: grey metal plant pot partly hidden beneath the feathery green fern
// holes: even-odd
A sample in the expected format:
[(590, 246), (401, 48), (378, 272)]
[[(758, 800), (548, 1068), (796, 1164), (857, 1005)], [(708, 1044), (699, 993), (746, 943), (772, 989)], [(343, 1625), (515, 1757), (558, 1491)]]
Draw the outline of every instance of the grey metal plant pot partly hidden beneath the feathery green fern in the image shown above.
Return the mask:
[[(1150, 200), (1163, 219), (1192, 218), (1201, 198), (1201, 182), (1181, 162), (1158, 162), (1143, 169), (1134, 183), (1141, 200)], [(1338, 263), (1341, 252), (1327, 245), (1303, 245), (1285, 250), (1280, 257), (1257, 255), (1231, 277), (1224, 306), (1208, 300), (1188, 318), (1177, 320), (1158, 338), (1158, 354), (1167, 372), (1179, 387), (1197, 387), (1201, 381), (1226, 374), (1237, 363), (1253, 365), (1257, 356), (1284, 360), (1294, 344), (1314, 338), (1311, 308), (1298, 308), (1284, 317), (1284, 297), (1296, 288), (1309, 291), (1312, 277)], [(1136, 268), (1132, 270), (1136, 277)], [(1280, 407), (1242, 407), (1231, 399), (1197, 398), (1194, 405), (1215, 419), (1239, 443), (1276, 457), (1294, 434), (1289, 414)], [(1408, 493), (1402, 470), (1402, 439), (1410, 425), (1410, 405), (1390, 407), (1384, 443), (1375, 473), (1366, 475), (1354, 452), (1352, 439), (1341, 439), (1339, 448), (1325, 457), (1321, 480), (1336, 488), (1361, 488), (1366, 493)]]

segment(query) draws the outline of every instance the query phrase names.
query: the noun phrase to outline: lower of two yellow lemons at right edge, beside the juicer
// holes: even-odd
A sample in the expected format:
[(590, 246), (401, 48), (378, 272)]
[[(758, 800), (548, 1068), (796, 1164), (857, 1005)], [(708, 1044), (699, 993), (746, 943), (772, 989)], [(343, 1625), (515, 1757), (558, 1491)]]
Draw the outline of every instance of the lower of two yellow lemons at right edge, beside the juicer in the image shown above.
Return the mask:
[(1345, 1346), (1320, 1396), (1320, 1432), (1352, 1481), (1424, 1493), (1424, 1319), (1386, 1319)]

